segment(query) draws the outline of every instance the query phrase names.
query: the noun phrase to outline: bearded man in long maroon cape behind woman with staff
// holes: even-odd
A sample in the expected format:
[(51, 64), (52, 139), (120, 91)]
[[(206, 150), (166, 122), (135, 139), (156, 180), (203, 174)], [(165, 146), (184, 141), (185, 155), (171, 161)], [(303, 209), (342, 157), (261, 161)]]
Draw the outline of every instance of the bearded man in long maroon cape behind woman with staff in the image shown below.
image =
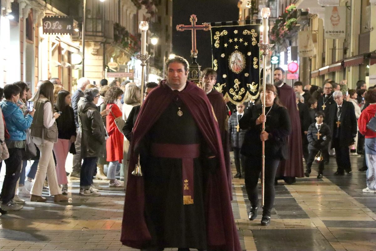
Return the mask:
[(291, 134), (287, 142), (288, 158), (280, 161), (276, 177), (285, 180), (287, 184), (292, 184), (295, 182), (295, 177), (304, 176), (302, 135), (295, 92), (292, 87), (284, 83), (284, 79), (285, 70), (280, 67), (275, 68), (274, 85), (277, 87), (280, 101), (287, 108), (291, 121)]

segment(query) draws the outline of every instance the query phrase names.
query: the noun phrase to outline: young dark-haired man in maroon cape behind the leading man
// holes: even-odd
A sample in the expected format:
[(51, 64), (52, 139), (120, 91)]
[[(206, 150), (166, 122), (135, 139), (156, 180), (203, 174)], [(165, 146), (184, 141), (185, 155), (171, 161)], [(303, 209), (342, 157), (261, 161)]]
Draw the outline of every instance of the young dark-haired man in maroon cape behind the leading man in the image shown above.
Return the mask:
[(202, 90), (205, 91), (208, 96), (209, 102), (213, 106), (215, 117), (217, 118), (219, 125), (219, 132), (221, 134), (224, 163), (226, 165), (227, 179), (229, 183), (230, 196), (232, 200), (232, 175), (231, 175), (231, 163), (230, 163), (230, 143), (228, 134), (228, 113), (226, 109), (226, 103), (223, 99), (223, 94), (214, 90), (214, 84), (217, 80), (217, 72), (213, 68), (206, 68), (202, 71)]

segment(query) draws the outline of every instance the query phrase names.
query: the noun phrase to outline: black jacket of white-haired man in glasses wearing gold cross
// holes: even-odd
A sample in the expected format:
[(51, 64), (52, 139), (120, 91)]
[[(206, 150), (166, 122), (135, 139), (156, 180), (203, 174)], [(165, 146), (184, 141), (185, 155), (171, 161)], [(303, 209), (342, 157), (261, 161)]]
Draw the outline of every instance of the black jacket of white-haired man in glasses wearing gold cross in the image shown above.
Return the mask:
[[(337, 103), (334, 103), (329, 107), (329, 120), (327, 121), (327, 124), (332, 131), (332, 139), (334, 139), (337, 136)], [(337, 137), (339, 139), (339, 144), (342, 146), (350, 146), (358, 131), (356, 127), (355, 109), (351, 102), (343, 100), (340, 122), (341, 125)]]

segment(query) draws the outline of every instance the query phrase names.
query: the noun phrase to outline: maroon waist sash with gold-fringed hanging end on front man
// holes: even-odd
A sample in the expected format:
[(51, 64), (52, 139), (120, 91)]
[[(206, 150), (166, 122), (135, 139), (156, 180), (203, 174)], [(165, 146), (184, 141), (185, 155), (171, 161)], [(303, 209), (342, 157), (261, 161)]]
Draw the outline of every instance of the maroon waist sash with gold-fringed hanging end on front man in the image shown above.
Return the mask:
[(154, 157), (182, 159), (183, 204), (193, 204), (193, 159), (200, 156), (200, 144), (152, 143), (151, 152)]

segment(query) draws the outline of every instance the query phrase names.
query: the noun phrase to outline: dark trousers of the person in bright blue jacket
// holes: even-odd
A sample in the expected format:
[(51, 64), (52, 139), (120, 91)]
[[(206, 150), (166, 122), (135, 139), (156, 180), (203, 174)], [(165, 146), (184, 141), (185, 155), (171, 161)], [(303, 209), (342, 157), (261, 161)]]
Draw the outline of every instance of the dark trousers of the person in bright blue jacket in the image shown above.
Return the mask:
[(0, 194), (3, 204), (8, 204), (14, 198), (18, 178), (21, 175), (23, 148), (9, 148), (9, 158), (4, 160), (6, 169), (3, 189)]

